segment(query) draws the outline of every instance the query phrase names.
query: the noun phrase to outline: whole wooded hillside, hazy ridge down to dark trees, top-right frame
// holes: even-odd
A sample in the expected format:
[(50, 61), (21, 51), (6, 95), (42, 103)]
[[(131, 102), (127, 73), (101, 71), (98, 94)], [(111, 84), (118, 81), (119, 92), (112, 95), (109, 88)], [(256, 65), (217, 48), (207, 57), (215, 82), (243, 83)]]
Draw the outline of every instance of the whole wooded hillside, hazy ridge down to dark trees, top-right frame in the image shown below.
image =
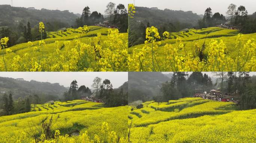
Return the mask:
[(134, 18), (129, 19), (129, 47), (143, 44), (146, 41), (146, 28), (155, 26), (159, 35), (165, 31), (179, 32), (196, 26), (194, 21), (200, 19), (196, 13), (181, 10), (153, 10), (147, 7), (135, 7)]

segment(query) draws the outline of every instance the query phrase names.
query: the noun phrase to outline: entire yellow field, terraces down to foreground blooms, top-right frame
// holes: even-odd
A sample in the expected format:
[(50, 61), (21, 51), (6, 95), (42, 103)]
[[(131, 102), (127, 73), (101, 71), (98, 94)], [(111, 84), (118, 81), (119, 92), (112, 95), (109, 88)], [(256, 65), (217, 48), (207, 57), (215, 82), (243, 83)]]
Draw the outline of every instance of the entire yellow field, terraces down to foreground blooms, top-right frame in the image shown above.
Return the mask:
[[(162, 35), (160, 35), (162, 37)], [(170, 33), (129, 48), (130, 71), (254, 71), (256, 34), (218, 27)], [(152, 50), (153, 46), (153, 50)], [(153, 51), (153, 52), (152, 52)], [(153, 53), (153, 60), (152, 60)], [(154, 64), (153, 64), (154, 63)]]

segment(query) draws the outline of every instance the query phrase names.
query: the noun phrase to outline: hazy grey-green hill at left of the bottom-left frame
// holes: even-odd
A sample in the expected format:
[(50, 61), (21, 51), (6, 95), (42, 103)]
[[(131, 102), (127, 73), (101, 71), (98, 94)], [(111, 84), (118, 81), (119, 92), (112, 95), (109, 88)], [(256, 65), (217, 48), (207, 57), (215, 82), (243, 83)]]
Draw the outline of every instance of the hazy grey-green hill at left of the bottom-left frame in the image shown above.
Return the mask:
[(12, 93), (14, 99), (24, 98), (33, 94), (51, 95), (60, 98), (67, 90), (67, 88), (59, 83), (37, 82), (35, 80), (29, 82), (9, 77), (0, 77), (0, 95), (4, 94), (3, 92), (7, 94)]

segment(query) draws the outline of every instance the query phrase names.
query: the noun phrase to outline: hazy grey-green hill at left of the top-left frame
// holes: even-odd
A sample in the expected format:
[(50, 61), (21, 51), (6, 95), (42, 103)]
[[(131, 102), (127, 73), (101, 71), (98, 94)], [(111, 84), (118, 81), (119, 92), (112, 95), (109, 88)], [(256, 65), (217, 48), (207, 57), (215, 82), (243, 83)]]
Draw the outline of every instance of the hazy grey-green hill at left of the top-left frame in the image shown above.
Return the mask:
[(10, 5), (0, 5), (0, 27), (12, 27), (18, 25), (19, 22), (27, 24), (29, 21), (34, 27), (40, 21), (59, 22), (63, 26), (71, 26), (76, 22), (77, 15), (68, 12), (68, 10), (48, 10), (48, 9), (27, 9), (25, 7), (12, 7)]

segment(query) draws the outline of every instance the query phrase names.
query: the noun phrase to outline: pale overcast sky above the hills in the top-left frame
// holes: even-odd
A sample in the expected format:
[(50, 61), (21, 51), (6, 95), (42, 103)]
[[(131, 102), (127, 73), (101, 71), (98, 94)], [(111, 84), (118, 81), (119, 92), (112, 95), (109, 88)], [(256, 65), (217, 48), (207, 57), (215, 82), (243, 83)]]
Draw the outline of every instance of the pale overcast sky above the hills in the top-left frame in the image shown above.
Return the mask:
[[(85, 6), (90, 7), (90, 11), (97, 11), (104, 13), (109, 2), (116, 5), (122, 3), (125, 7), (128, 6), (129, 0), (13, 0), (15, 7), (35, 7), (36, 9), (50, 9), (50, 10), (69, 10), (73, 13), (82, 14)], [(11, 0), (0, 0), (0, 4), (11, 4)]]

